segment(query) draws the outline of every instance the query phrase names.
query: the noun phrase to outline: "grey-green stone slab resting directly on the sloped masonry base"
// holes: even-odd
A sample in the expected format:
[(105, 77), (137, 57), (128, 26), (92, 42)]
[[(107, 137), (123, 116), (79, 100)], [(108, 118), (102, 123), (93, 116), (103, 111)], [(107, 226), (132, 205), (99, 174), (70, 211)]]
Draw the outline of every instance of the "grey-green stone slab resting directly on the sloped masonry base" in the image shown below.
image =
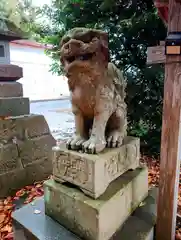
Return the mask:
[(30, 113), (29, 98), (0, 98), (0, 116), (21, 116)]

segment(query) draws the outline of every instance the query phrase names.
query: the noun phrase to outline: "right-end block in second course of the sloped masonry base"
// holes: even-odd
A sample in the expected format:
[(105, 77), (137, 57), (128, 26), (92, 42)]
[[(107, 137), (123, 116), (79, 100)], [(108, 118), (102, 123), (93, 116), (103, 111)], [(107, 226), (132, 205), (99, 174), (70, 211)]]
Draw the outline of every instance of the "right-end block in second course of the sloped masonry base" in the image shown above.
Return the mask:
[(52, 135), (44, 135), (41, 137), (18, 142), (18, 152), (22, 164), (26, 167), (29, 163), (39, 159), (51, 159), (51, 149), (56, 144)]

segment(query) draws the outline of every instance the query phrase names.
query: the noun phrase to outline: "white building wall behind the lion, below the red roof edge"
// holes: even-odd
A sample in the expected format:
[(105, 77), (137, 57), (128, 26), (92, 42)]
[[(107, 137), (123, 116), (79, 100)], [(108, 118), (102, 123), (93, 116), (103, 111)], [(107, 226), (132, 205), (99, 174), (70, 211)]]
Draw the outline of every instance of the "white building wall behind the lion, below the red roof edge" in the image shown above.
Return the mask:
[(69, 96), (67, 79), (52, 75), (51, 59), (44, 49), (10, 44), (11, 63), (23, 68), (24, 96), (30, 100), (57, 99), (61, 95)]

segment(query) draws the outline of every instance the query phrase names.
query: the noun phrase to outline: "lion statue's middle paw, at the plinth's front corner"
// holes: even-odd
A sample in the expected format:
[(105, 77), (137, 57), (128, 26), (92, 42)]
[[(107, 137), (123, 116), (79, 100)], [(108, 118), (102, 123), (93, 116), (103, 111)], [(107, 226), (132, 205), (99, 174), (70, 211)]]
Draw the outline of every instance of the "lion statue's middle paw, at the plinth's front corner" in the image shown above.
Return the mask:
[(96, 140), (95, 138), (90, 138), (88, 141), (82, 144), (82, 151), (85, 153), (96, 154), (102, 152), (106, 147), (105, 140)]

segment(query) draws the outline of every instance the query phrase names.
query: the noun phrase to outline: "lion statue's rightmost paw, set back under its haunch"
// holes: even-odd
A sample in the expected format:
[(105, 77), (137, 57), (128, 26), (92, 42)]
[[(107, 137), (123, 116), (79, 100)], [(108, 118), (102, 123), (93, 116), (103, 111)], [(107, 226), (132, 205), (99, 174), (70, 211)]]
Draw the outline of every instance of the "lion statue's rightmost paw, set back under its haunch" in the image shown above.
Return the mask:
[(108, 148), (120, 147), (122, 143), (123, 143), (123, 137), (121, 136), (119, 131), (113, 131), (107, 137)]

